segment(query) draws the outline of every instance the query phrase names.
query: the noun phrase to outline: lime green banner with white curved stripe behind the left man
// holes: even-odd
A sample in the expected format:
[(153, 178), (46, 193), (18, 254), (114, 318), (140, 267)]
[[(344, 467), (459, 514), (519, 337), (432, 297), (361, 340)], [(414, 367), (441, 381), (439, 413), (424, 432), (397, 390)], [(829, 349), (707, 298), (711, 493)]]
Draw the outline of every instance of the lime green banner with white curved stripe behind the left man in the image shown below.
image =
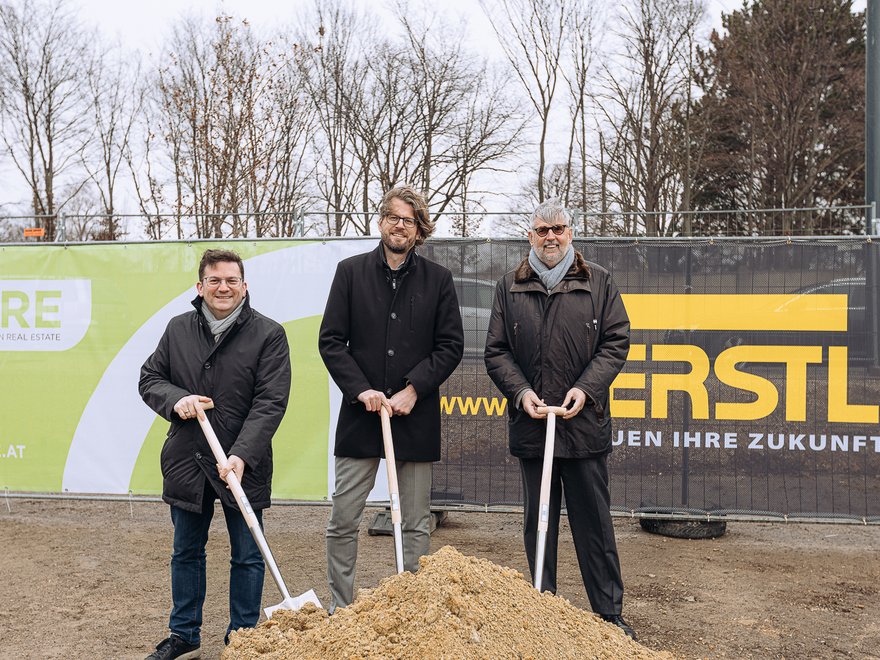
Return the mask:
[[(374, 245), (222, 244), (245, 260), (254, 308), (282, 323), (290, 342), (293, 384), (273, 441), (274, 497), (328, 495), (336, 395), (318, 355), (318, 326), (335, 263)], [(201, 254), (218, 246), (0, 248), (0, 485), (161, 492), (159, 452), (168, 423), (138, 396), (140, 366), (168, 320), (191, 309)]]

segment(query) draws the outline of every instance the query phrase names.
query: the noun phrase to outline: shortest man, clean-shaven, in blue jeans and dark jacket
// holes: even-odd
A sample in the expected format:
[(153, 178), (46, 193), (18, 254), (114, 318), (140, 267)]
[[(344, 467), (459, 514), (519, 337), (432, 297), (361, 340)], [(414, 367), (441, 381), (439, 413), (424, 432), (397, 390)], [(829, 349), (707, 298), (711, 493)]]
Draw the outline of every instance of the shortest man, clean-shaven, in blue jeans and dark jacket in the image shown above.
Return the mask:
[[(265, 567), (196, 419), (207, 414), (223, 450), (262, 522), (272, 486), (272, 436), (290, 394), (287, 337), (275, 321), (251, 309), (244, 264), (235, 252), (206, 250), (199, 264), (195, 310), (171, 319), (141, 368), (144, 401), (171, 422), (162, 447), (162, 499), (171, 505), (173, 607), (168, 639), (152, 658), (199, 654), (205, 601), (205, 545), (220, 499), (232, 561), (229, 632), (260, 618)], [(202, 411), (213, 401), (214, 409)]]

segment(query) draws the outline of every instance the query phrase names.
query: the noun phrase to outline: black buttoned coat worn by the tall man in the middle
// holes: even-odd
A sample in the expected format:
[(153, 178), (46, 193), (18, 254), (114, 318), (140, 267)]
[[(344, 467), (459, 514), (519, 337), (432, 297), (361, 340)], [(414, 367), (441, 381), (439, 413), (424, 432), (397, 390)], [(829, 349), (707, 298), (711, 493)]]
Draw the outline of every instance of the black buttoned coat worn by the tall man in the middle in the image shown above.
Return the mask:
[(391, 420), (395, 457), (440, 460), (440, 385), (464, 351), (461, 313), (447, 268), (415, 252), (403, 268), (392, 286), (381, 243), (336, 268), (318, 338), (342, 391), (336, 456), (383, 456), (379, 415), (357, 397), (370, 389), (390, 397), (412, 384), (412, 412)]

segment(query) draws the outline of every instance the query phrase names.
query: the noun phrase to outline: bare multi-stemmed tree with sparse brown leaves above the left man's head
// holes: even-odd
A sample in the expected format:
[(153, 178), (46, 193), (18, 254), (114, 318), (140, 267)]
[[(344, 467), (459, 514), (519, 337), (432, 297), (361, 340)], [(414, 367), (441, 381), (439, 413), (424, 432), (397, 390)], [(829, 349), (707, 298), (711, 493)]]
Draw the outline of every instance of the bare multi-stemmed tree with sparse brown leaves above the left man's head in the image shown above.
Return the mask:
[[(259, 38), (232, 16), (179, 24), (148, 106), (142, 148), (151, 162), (135, 184), (142, 211), (170, 199), (180, 238), (297, 231), (313, 167), (303, 58), (298, 44)], [(185, 216), (194, 225), (185, 227)], [(157, 214), (148, 231), (163, 224)]]

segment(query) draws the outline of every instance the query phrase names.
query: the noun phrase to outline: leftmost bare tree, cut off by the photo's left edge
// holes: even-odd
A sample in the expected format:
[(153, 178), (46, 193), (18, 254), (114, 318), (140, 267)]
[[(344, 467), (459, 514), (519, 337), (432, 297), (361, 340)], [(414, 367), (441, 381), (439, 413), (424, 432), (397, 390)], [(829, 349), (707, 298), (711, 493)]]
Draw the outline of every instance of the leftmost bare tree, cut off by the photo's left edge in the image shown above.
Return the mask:
[(78, 170), (90, 131), (80, 85), (92, 39), (64, 0), (0, 5), (0, 138), (43, 216), (45, 240), (88, 181)]

